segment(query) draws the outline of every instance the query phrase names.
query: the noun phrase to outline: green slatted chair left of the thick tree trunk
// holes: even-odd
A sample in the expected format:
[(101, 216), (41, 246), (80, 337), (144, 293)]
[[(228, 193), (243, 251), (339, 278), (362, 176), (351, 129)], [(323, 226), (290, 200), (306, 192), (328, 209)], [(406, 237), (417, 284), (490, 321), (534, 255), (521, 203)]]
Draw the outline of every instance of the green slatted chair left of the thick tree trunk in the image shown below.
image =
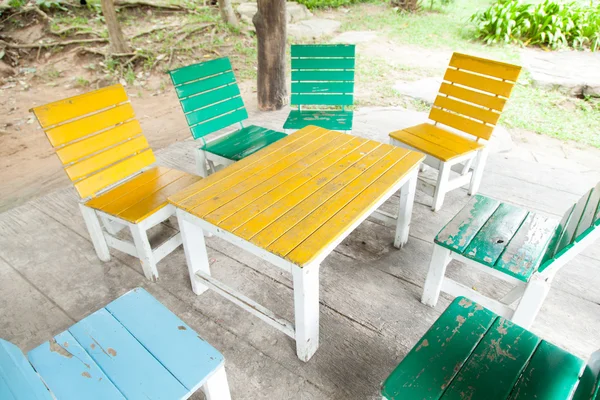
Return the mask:
[[(286, 135), (260, 126), (244, 126), (248, 118), (240, 89), (227, 57), (170, 71), (175, 92), (194, 139), (202, 140), (196, 152), (198, 173), (208, 175), (270, 145)], [(240, 129), (206, 141), (210, 135), (239, 124)]]

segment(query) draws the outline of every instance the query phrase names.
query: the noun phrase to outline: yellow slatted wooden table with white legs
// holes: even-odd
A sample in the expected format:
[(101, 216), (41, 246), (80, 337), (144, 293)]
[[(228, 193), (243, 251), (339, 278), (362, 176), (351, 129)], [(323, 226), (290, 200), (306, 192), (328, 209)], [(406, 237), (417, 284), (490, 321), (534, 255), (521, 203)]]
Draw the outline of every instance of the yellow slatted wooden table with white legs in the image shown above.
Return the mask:
[[(309, 126), (171, 196), (194, 292), (213, 289), (257, 315), (308, 361), (319, 345), (319, 264), (398, 190), (394, 245), (406, 243), (423, 158)], [(204, 232), (292, 274), (295, 325), (210, 276)]]

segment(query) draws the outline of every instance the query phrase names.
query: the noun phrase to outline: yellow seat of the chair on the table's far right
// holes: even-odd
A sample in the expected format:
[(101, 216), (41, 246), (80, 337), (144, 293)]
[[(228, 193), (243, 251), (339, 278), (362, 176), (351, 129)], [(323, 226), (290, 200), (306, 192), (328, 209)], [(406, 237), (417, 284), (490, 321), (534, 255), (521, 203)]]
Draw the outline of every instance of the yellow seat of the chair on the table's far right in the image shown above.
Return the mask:
[(483, 147), (432, 124), (421, 124), (390, 133), (390, 137), (439, 160), (449, 161)]

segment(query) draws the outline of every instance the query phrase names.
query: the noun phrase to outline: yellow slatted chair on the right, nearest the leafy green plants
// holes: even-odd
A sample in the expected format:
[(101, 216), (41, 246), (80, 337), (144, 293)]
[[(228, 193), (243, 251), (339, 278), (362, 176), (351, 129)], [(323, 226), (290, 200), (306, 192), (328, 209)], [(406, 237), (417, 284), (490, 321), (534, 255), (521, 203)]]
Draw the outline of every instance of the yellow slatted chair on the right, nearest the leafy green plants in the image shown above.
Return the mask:
[[(439, 171), (434, 211), (446, 193), (469, 186), (477, 193), (492, 136), (521, 67), (454, 53), (444, 82), (424, 123), (390, 133), (390, 143), (427, 155), (424, 163)], [(459, 174), (450, 179), (450, 172)]]

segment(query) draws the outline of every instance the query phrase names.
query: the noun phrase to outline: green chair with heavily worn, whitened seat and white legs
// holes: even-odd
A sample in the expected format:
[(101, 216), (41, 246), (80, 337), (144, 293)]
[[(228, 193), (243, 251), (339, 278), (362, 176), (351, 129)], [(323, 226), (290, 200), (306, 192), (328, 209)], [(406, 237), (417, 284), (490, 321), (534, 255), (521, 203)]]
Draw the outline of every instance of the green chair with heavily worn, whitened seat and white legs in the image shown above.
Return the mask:
[[(556, 273), (600, 237), (599, 226), (600, 183), (570, 207), (560, 222), (485, 196), (473, 196), (435, 238), (422, 302), (435, 306), (440, 291), (468, 296), (529, 328)], [(452, 259), (507, 281), (514, 288), (500, 300), (490, 299), (445, 277)]]

